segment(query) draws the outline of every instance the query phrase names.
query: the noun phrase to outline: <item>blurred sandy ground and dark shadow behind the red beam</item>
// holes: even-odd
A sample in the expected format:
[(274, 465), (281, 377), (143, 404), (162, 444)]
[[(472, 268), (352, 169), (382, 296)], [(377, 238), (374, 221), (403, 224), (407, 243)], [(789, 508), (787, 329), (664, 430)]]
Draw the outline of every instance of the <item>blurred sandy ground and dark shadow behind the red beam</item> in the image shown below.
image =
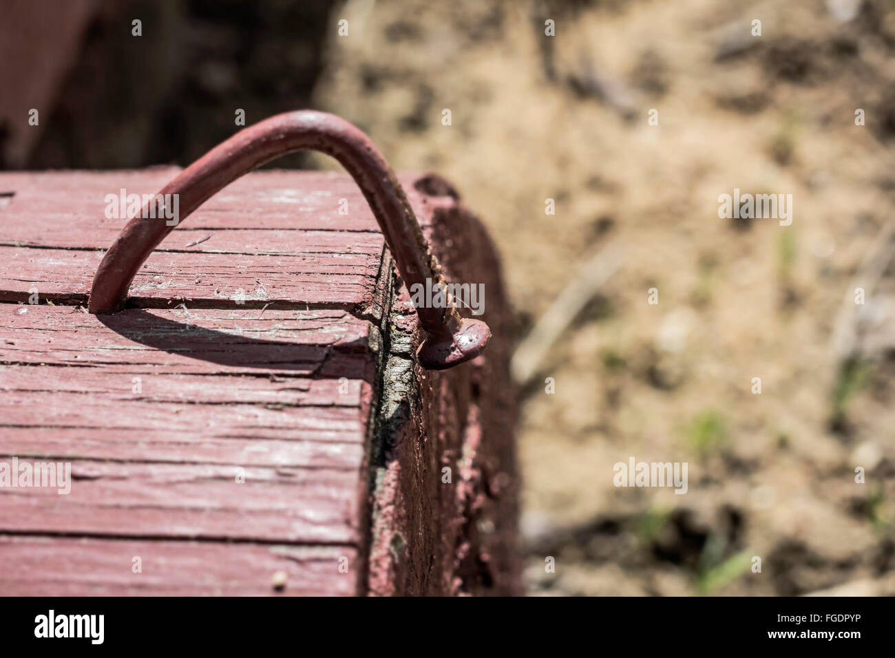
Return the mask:
[[(519, 337), (622, 254), (521, 390), (532, 594), (895, 594), (895, 2), (100, 4), (28, 167), (186, 165), (311, 105), (456, 185)], [(792, 225), (720, 219), (734, 188)], [(629, 457), (686, 495), (614, 487)]]

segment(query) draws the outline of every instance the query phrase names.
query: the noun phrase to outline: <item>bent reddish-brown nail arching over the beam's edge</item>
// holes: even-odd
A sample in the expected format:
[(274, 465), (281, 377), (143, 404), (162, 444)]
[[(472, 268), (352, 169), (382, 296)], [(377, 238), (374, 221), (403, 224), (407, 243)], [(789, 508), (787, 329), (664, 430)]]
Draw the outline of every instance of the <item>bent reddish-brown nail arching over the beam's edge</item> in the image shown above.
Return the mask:
[[(336, 115), (300, 110), (271, 116), (209, 150), (158, 194), (179, 195), (178, 219), (183, 220), (235, 179), (298, 150), (326, 153), (354, 177), (408, 288), (413, 284), (425, 286), (427, 278), (435, 284), (445, 284), (439, 261), (385, 158), (360, 129)], [(114, 313), (124, 306), (141, 265), (175, 228), (149, 215), (148, 205), (141, 216), (124, 226), (99, 263), (88, 301), (91, 313)], [(460, 317), (456, 303), (447, 296), (447, 308), (416, 309), (426, 332), (417, 355), (430, 370), (444, 370), (474, 358), (482, 353), (490, 338), (488, 325), (482, 320)]]

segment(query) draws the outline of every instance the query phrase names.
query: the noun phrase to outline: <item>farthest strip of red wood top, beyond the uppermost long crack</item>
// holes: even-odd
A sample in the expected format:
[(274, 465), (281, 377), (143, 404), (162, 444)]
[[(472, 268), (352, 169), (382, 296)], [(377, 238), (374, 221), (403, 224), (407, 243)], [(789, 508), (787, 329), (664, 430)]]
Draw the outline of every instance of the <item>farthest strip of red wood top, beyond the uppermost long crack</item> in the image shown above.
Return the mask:
[[(179, 172), (180, 167), (114, 172), (0, 172), (0, 192), (15, 192), (13, 200), (4, 207), (4, 217), (33, 222), (32, 229), (23, 226), (20, 232), (3, 235), (2, 239), (4, 244), (27, 239), (45, 246), (64, 246), (57, 235), (77, 227), (83, 234), (73, 238), (77, 244), (97, 248), (99, 237), (115, 237), (126, 223), (124, 218), (105, 216), (107, 194), (118, 195), (121, 188), (129, 194), (154, 194)], [(417, 218), (427, 225), (431, 223), (431, 212), (426, 208), (441, 204), (439, 198), (416, 190), (414, 184), (419, 178), (415, 174), (398, 174)], [(342, 199), (348, 201), (347, 214), (339, 214)], [(67, 221), (60, 221), (63, 218)], [(257, 171), (234, 181), (202, 204), (177, 230), (274, 228), (382, 235), (350, 176), (340, 172), (283, 170)], [(15, 231), (15, 226), (11, 230)], [(174, 234), (166, 239), (176, 237)], [(103, 243), (101, 248), (107, 246)]]

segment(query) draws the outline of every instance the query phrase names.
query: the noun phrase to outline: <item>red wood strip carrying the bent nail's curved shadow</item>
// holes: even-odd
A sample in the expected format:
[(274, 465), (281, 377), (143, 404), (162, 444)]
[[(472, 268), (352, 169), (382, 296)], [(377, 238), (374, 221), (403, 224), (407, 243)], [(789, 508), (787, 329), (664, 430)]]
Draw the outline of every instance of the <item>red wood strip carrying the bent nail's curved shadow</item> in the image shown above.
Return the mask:
[[(7, 363), (141, 364), (152, 372), (275, 372), (355, 379), (346, 356), (378, 345), (371, 323), (340, 311), (128, 309), (90, 315), (72, 306), (3, 304)], [(211, 365), (209, 365), (211, 364)], [(212, 368), (213, 366), (213, 368)]]

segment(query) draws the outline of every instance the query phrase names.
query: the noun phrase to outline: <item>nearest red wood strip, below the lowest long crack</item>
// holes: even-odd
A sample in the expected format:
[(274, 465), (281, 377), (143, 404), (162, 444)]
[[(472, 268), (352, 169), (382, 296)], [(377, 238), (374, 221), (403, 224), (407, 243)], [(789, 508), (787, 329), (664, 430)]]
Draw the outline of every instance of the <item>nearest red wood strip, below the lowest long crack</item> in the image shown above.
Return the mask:
[(358, 586), (353, 546), (0, 535), (0, 555), (11, 566), (0, 570), (0, 596), (331, 596)]

